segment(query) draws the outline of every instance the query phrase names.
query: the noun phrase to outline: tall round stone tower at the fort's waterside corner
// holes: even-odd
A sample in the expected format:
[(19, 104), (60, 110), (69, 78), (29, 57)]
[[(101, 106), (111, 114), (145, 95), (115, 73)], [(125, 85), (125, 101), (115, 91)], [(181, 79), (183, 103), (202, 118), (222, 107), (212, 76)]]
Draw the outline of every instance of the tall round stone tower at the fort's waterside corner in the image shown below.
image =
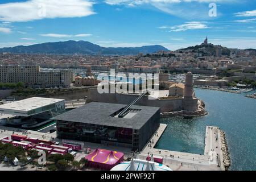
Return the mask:
[(188, 72), (185, 78), (183, 109), (187, 111), (198, 110), (197, 98), (195, 97), (195, 91), (193, 90), (193, 74)]

